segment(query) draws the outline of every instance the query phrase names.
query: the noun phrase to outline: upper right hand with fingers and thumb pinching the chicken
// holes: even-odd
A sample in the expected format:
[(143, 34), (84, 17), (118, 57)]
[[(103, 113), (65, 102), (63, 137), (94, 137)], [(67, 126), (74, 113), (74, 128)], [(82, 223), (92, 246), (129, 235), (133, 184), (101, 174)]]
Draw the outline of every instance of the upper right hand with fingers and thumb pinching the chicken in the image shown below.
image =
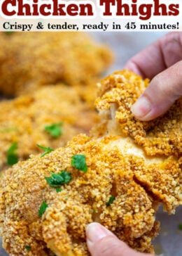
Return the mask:
[(182, 32), (166, 34), (131, 58), (125, 68), (151, 79), (132, 113), (142, 121), (164, 114), (182, 95)]

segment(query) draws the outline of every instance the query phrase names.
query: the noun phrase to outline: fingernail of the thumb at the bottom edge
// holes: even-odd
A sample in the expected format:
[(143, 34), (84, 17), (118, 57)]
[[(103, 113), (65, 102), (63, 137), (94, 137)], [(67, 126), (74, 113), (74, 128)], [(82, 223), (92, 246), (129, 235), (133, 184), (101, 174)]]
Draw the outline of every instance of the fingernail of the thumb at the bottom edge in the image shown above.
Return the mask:
[(87, 226), (86, 233), (87, 233), (87, 242), (89, 243), (95, 243), (100, 239), (104, 238), (105, 236), (109, 235), (107, 229), (105, 229), (104, 226), (101, 226), (98, 223), (89, 224)]

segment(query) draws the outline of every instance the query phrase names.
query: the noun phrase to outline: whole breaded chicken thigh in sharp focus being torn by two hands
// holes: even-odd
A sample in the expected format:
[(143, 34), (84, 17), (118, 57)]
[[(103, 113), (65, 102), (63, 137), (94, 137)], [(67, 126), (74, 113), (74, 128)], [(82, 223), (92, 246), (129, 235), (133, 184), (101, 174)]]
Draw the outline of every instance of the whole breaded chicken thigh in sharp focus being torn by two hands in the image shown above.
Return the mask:
[[(90, 136), (2, 175), (1, 235), (10, 255), (90, 255), (85, 226), (93, 221), (132, 248), (153, 252), (158, 205), (169, 213), (181, 205), (181, 99), (160, 119), (139, 122), (130, 107), (147, 83), (127, 70), (106, 77), (96, 101), (103, 121)], [(170, 130), (177, 141), (167, 141)], [(159, 140), (169, 148), (163, 153)]]

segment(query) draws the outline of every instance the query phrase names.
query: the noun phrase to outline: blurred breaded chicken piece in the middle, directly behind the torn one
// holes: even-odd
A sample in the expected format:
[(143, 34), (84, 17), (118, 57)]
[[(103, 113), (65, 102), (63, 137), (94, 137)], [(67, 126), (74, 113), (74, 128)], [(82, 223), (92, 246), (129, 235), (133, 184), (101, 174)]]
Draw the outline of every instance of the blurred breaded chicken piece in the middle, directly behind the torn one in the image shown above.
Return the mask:
[[(6, 155), (12, 143), (18, 143), (18, 159), (40, 153), (36, 146), (57, 148), (80, 132), (88, 133), (99, 121), (96, 110), (83, 102), (73, 87), (46, 86), (31, 95), (0, 103), (0, 169), (7, 168)], [(59, 124), (62, 134), (51, 136), (45, 127)], [(59, 125), (58, 125), (59, 127)]]

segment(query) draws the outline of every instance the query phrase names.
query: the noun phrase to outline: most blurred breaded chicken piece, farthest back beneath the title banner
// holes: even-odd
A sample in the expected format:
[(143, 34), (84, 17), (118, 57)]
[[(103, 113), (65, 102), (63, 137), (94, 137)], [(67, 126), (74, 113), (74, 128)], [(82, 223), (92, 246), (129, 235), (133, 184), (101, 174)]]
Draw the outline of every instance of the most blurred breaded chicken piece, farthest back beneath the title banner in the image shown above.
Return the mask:
[(83, 32), (1, 32), (0, 45), (0, 93), (8, 96), (57, 82), (87, 86), (113, 58)]

